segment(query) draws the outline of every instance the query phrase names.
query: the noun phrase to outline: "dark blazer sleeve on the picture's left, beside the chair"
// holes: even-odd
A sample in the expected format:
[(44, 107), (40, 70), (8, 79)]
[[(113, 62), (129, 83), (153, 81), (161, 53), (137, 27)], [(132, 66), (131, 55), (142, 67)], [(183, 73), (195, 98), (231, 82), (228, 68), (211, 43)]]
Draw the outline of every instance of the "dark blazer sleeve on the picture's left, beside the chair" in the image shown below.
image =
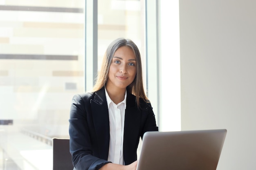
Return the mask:
[[(89, 106), (85, 106), (89, 105)], [(90, 112), (90, 98), (74, 95), (70, 108), (69, 134), (70, 153), (76, 170), (98, 170), (109, 161), (92, 154), (87, 115)]]

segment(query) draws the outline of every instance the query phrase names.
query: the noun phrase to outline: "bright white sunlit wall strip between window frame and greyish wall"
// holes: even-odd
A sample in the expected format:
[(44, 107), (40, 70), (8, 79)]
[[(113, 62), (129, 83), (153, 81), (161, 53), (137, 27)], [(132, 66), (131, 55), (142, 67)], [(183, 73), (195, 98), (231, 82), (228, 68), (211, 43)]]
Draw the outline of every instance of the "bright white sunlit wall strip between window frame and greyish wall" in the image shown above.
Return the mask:
[(159, 131), (180, 131), (179, 0), (159, 1)]

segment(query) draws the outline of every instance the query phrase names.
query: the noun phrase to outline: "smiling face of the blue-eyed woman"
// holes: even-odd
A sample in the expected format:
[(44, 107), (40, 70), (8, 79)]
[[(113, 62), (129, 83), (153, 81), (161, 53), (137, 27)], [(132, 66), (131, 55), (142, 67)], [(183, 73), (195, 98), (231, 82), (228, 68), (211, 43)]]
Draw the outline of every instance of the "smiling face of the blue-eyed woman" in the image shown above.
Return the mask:
[(121, 46), (115, 51), (108, 72), (107, 86), (126, 88), (135, 79), (137, 73), (135, 55), (128, 46)]

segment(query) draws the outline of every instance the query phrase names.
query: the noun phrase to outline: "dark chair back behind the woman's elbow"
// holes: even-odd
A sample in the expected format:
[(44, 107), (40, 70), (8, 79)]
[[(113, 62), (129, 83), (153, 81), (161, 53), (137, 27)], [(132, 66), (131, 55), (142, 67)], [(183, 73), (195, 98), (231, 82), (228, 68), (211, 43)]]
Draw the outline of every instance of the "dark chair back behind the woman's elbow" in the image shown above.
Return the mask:
[(70, 139), (52, 139), (53, 170), (73, 170)]

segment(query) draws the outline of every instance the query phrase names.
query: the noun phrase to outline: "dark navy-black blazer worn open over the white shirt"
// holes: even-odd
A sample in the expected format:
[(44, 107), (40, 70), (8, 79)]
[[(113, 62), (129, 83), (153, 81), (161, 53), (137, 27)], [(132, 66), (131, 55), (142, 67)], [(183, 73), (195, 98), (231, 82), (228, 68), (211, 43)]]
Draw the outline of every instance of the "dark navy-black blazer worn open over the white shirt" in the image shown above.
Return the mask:
[[(110, 141), (108, 105), (105, 89), (74, 95), (70, 109), (70, 153), (77, 170), (97, 170), (108, 163)], [(139, 137), (146, 131), (158, 131), (150, 103), (127, 93), (124, 121), (124, 161), (137, 160)]]

